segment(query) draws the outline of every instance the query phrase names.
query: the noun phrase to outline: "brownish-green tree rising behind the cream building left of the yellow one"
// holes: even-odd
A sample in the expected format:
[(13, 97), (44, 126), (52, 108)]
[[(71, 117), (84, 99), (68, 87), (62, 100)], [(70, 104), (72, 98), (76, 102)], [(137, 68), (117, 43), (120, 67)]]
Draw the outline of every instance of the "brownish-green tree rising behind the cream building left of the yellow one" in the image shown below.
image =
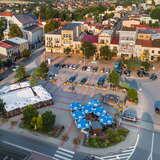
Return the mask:
[(44, 26), (44, 31), (45, 33), (54, 31), (55, 29), (57, 29), (60, 26), (59, 22), (55, 22), (53, 20), (50, 20), (46, 23), (46, 25)]

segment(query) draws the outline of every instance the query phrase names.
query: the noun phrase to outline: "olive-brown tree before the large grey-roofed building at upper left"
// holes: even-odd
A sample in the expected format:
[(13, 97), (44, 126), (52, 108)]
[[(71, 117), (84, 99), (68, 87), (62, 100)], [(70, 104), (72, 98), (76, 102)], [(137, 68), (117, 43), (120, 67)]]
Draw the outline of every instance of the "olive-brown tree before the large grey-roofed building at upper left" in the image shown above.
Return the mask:
[(23, 33), (17, 24), (11, 24), (9, 28), (9, 37), (23, 37)]

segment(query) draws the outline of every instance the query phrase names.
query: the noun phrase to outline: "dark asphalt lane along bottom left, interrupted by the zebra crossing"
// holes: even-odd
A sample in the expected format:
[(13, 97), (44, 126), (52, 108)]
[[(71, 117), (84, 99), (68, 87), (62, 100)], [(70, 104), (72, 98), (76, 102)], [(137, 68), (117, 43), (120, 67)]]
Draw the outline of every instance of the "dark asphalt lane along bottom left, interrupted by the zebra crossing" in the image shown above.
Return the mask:
[[(20, 134), (4, 131), (0, 129), (0, 141), (6, 144), (9, 144), (14, 147), (24, 149), (26, 151), (33, 152), (46, 158), (53, 158), (59, 149), (58, 146), (53, 145), (52, 143), (47, 143), (41, 141), (40, 139), (33, 139), (31, 137), (23, 136)], [(67, 152), (63, 152), (66, 154)], [(65, 157), (65, 155), (63, 155)], [(73, 155), (73, 160), (84, 160), (88, 156), (85, 153), (75, 152)], [(67, 157), (67, 156), (66, 156)]]

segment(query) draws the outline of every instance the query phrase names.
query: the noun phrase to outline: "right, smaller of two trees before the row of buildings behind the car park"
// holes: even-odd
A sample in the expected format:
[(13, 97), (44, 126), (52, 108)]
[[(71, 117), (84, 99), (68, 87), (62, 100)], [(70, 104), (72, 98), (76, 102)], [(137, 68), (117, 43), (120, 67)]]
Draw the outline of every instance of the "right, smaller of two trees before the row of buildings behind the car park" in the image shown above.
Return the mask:
[(102, 46), (100, 48), (100, 56), (102, 59), (111, 60), (113, 54), (108, 46)]

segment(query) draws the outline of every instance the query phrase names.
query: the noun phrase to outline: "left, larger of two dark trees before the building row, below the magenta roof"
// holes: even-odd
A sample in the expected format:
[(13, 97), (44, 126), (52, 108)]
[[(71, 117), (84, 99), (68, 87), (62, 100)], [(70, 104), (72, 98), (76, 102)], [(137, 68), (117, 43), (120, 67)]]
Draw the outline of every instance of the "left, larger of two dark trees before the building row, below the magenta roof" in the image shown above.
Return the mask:
[(81, 50), (83, 51), (85, 58), (89, 59), (90, 57), (95, 55), (96, 46), (91, 42), (83, 42)]

